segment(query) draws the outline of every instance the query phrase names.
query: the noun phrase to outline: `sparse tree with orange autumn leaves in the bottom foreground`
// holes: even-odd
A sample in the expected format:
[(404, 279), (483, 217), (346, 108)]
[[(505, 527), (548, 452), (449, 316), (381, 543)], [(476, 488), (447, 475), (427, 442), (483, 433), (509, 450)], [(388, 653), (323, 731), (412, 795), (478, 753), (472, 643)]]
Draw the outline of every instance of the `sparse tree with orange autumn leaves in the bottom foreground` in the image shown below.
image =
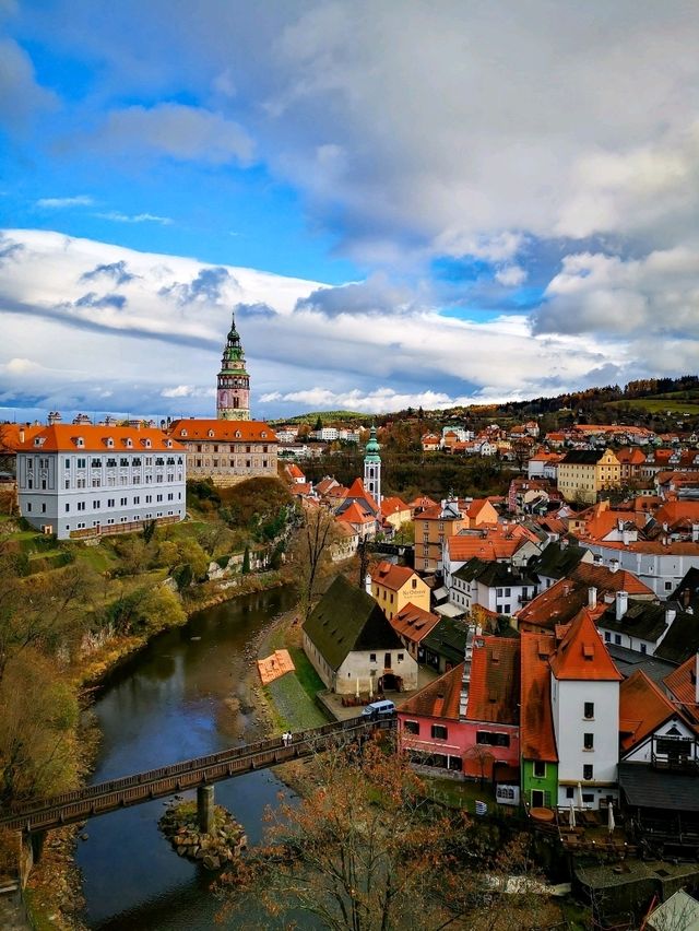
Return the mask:
[(488, 844), (482, 825), (431, 802), (393, 747), (340, 744), (304, 767), (299, 789), (223, 877), (228, 909), (247, 894), (274, 916), (303, 911), (339, 931), (545, 927), (546, 903), (530, 901), (525, 881), (519, 896), (493, 896), (501, 876), (530, 871), (528, 846)]

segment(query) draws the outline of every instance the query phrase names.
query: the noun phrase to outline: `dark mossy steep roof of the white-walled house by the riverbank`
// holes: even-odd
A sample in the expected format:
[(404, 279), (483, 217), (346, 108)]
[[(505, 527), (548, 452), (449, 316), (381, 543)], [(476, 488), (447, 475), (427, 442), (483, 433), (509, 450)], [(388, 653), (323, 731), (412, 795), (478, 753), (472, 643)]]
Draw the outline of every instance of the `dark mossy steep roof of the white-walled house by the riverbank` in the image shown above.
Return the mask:
[(304, 623), (304, 631), (333, 670), (353, 651), (379, 652), (402, 646), (371, 596), (344, 576), (335, 578)]

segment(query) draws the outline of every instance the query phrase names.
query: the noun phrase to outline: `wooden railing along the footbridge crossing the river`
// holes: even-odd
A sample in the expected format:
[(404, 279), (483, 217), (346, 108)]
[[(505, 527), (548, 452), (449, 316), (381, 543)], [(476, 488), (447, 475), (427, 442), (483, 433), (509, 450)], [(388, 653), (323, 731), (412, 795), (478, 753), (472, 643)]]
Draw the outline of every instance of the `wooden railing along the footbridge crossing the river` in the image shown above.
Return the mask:
[[(300, 731), (292, 734), (291, 744), (285, 744), (281, 736), (271, 738), (268, 740), (256, 741), (251, 744), (229, 747), (228, 750), (212, 753), (206, 756), (199, 756), (192, 759), (183, 759), (179, 763), (174, 763), (168, 766), (161, 766), (157, 769), (149, 769), (144, 773), (135, 773), (131, 776), (123, 776), (117, 779), (110, 779), (106, 782), (97, 782), (94, 786), (87, 786), (83, 789), (75, 789), (70, 792), (63, 792), (60, 796), (54, 796), (48, 799), (40, 799), (34, 802), (27, 802), (22, 805), (16, 805), (7, 812), (0, 812), (0, 825), (9, 822), (14, 822), (22, 816), (32, 816), (32, 822), (37, 823), (38, 816), (46, 812), (55, 812), (57, 809), (62, 809), (63, 814), (69, 817), (73, 814), (84, 812), (85, 802), (96, 801), (103, 802), (111, 800), (107, 803), (107, 808), (112, 804), (115, 797), (119, 797), (125, 803), (130, 799), (145, 800), (147, 794), (144, 789), (149, 786), (158, 785), (158, 794), (168, 794), (168, 786), (171, 783), (171, 793), (193, 788), (201, 785), (202, 781), (217, 781), (225, 778), (226, 775), (232, 775), (234, 770), (240, 771), (249, 768), (246, 761), (260, 753), (269, 752), (272, 756), (268, 762), (259, 762), (259, 765), (273, 765), (276, 759), (274, 751), (284, 749), (294, 749), (307, 746), (309, 742), (317, 739), (323, 739), (333, 734), (342, 734), (347, 732), (372, 730), (377, 727), (389, 728), (393, 726), (393, 721), (386, 720), (381, 722), (367, 721), (363, 717), (350, 718), (345, 721), (323, 724), (320, 728), (313, 728), (307, 731)], [(188, 779), (187, 777), (191, 778)], [(202, 778), (203, 777), (203, 778)], [(96, 808), (104, 808), (102, 804)], [(73, 810), (74, 808), (74, 810)], [(50, 820), (50, 818), (49, 818)]]

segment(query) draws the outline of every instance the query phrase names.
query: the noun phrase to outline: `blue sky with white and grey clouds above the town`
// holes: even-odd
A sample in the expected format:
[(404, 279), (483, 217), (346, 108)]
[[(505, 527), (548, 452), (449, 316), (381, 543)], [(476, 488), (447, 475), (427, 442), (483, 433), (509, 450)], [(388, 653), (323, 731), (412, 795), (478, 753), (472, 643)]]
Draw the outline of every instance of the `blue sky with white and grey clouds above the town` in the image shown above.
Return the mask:
[(696, 0), (0, 0), (0, 419), (699, 370)]

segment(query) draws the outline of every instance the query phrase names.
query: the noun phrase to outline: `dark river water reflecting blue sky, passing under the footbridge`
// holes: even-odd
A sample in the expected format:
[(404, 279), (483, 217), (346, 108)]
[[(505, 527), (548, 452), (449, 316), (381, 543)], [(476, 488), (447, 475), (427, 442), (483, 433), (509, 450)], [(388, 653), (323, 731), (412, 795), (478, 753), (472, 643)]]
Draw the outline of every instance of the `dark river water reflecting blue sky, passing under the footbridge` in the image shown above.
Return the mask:
[[(187, 626), (157, 636), (120, 668), (93, 706), (103, 741), (92, 781), (259, 739), (246, 682), (251, 643), (294, 601), (292, 589), (273, 589), (208, 609)], [(283, 789), (272, 770), (261, 770), (217, 783), (216, 802), (254, 842), (264, 808), (275, 804)], [(90, 928), (221, 928), (215, 923), (221, 903), (210, 892), (212, 874), (173, 851), (157, 829), (164, 809), (161, 799), (87, 822), (76, 861)]]

